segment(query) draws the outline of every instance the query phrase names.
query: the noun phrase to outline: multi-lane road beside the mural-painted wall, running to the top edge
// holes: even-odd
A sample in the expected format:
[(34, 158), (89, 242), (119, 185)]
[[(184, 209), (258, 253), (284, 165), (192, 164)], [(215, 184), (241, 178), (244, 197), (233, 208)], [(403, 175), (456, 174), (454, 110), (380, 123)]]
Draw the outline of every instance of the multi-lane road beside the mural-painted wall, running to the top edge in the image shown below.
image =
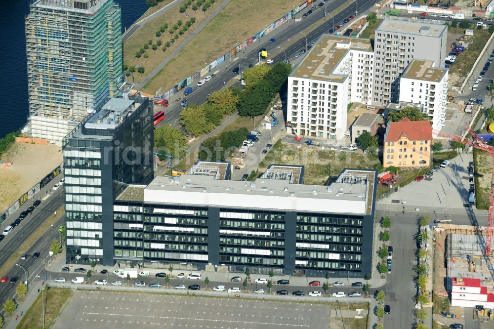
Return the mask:
[[(358, 11), (360, 13), (365, 12), (369, 8), (373, 6), (376, 0), (360, 0), (358, 2)], [(355, 1), (345, 1), (345, 0), (333, 0), (328, 1), (326, 11), (330, 13), (335, 10), (339, 6), (344, 3), (348, 3), (348, 6), (341, 10), (339, 13), (334, 15), (334, 20), (328, 14), (326, 19), (324, 19), (325, 6), (314, 10), (314, 12), (306, 18), (302, 18), (301, 21), (295, 22), (295, 20), (290, 19), (287, 23), (285, 23), (284, 27), (280, 27), (279, 32), (278, 29), (275, 29), (273, 32), (269, 33), (265, 37), (260, 39), (260, 42), (256, 42), (255, 44), (247, 47), (245, 53), (238, 54), (237, 58), (232, 59), (231, 63), (226, 63), (221, 66), (221, 69), (214, 68), (209, 74), (215, 74), (215, 77), (211, 79), (211, 81), (206, 82), (203, 86), (197, 87), (197, 89), (188, 95), (186, 99), (188, 100), (188, 104), (202, 104), (206, 101), (206, 97), (208, 94), (215, 90), (219, 90), (224, 87), (224, 83), (229, 83), (231, 79), (238, 79), (239, 76), (232, 73), (232, 70), (235, 67), (240, 67), (240, 71), (247, 68), (249, 64), (256, 64), (258, 62), (258, 51), (261, 48), (266, 48), (268, 51), (269, 59), (272, 59), (275, 63), (283, 61), (286, 57), (288, 59), (294, 59), (295, 54), (300, 52), (306, 44), (311, 44), (313, 41), (316, 41), (321, 35), (328, 33), (330, 29), (333, 28), (334, 24), (338, 25), (339, 22), (342, 22), (344, 19), (348, 19), (350, 16), (355, 15)], [(300, 18), (304, 13), (306, 13), (309, 8), (305, 8), (301, 12), (297, 13), (296, 17)], [(350, 21), (351, 22), (351, 21)], [(350, 24), (350, 23), (348, 23)], [(341, 30), (345, 30), (345, 24)], [(305, 33), (307, 40), (301, 32), (310, 29), (312, 26), (315, 26), (310, 32)], [(275, 38), (275, 42), (269, 43), (271, 38)], [(286, 42), (292, 41), (292, 39), (296, 39), (297, 41), (291, 44), (288, 48), (284, 47)], [(281, 48), (278, 49), (278, 46)], [(285, 53), (283, 52), (283, 50)], [(273, 55), (276, 53), (276, 55)], [(285, 57), (286, 54), (286, 57)], [(261, 60), (261, 62), (263, 62)], [(265, 61), (264, 61), (265, 62)], [(196, 87), (197, 81), (193, 82), (190, 87)], [(229, 83), (230, 85), (230, 83)], [(236, 85), (240, 85), (240, 82), (237, 82)], [(173, 99), (176, 96), (173, 97)], [(181, 99), (184, 98), (183, 94), (179, 94)], [(179, 101), (169, 100), (170, 105), (167, 108), (163, 108), (161, 106), (156, 106), (155, 110), (163, 110), (165, 109), (165, 120), (162, 124), (170, 124), (176, 125), (180, 119), (180, 112), (182, 111), (182, 106)]]

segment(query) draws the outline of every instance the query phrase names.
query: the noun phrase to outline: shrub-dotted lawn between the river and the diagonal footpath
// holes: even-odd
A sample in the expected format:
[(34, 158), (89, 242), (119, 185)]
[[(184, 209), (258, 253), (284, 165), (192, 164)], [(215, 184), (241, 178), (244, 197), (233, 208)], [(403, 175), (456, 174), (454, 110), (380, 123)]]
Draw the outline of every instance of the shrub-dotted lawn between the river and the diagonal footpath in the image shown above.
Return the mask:
[[(161, 2), (164, 3), (164, 2)], [(160, 4), (161, 4), (160, 3)], [(178, 44), (180, 44), (188, 35), (191, 34), (192, 31), (194, 31), (199, 24), (201, 24), (202, 21), (206, 19), (207, 16), (213, 12), (213, 10), (219, 5), (219, 1), (216, 1), (207, 11), (206, 13), (203, 12), (201, 9), (199, 9), (197, 12), (194, 12), (192, 10), (192, 6), (189, 6), (189, 8), (185, 11), (185, 13), (181, 14), (178, 11), (178, 8), (180, 5), (171, 8), (167, 11), (165, 11), (163, 14), (160, 15), (160, 17), (156, 18), (152, 22), (149, 22), (145, 25), (143, 25), (136, 33), (132, 35), (127, 41), (124, 43), (124, 64), (128, 66), (135, 66), (137, 64), (141, 64), (146, 71), (144, 74), (137, 74), (134, 73), (134, 79), (135, 83), (142, 81), (144, 77), (146, 77), (147, 74), (149, 74), (156, 66), (161, 63), (161, 61), (170, 54), (173, 49), (177, 47)], [(156, 7), (154, 7), (156, 8)], [(149, 10), (148, 10), (149, 11)], [(147, 13), (147, 11), (146, 11)], [(189, 17), (186, 17), (187, 14), (190, 14)], [(196, 22), (189, 28), (187, 32), (183, 36), (180, 36), (178, 40), (176, 40), (173, 45), (168, 48), (168, 50), (163, 51), (162, 47), (163, 44), (165, 44), (167, 41), (170, 41), (171, 37), (175, 35), (175, 33), (170, 34), (168, 32), (168, 29), (175, 24), (178, 20), (182, 20), (182, 23), (184, 26), (185, 22), (189, 20), (191, 17), (196, 18)], [(163, 33), (161, 37), (156, 37), (156, 31), (160, 30), (160, 27), (168, 23), (168, 29)], [(178, 33), (180, 29), (175, 31)], [(135, 53), (146, 43), (148, 40), (152, 40), (153, 43), (156, 43), (156, 41), (160, 39), (163, 44), (158, 47), (157, 50), (153, 50), (151, 46), (146, 50), (146, 53), (149, 55), (148, 58), (144, 58), (143, 55), (141, 55), (140, 58), (135, 57)], [(200, 48), (198, 48), (200, 49)], [(199, 69), (199, 68), (198, 68)], [(177, 77), (177, 79), (181, 79), (184, 77), (184, 75), (175, 75), (173, 77)], [(159, 87), (158, 87), (159, 88)], [(151, 93), (155, 93), (158, 88), (150, 90)]]

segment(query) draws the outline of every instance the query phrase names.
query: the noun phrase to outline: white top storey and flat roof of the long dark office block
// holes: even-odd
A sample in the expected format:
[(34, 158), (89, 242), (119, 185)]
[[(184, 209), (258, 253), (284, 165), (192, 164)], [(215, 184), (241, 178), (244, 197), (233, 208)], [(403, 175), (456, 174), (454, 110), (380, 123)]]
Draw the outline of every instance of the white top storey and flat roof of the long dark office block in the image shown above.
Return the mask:
[(371, 170), (346, 169), (329, 186), (160, 176), (144, 189), (144, 202), (365, 215), (372, 210), (374, 175)]

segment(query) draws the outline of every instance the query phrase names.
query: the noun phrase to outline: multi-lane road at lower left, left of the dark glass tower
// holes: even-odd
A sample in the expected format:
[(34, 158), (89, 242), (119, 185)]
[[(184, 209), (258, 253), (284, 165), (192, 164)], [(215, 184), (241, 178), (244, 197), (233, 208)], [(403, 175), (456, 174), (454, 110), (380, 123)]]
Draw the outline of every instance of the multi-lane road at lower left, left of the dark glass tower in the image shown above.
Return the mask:
[[(52, 186), (58, 180), (53, 180), (50, 184)], [(44, 190), (43, 192), (44, 193)], [(64, 193), (63, 189), (58, 189), (53, 192), (53, 194), (46, 200), (41, 202), (41, 205), (36, 207), (33, 213), (28, 215), (17, 227), (13, 229), (13, 231), (0, 242), (0, 264), (3, 264), (7, 259), (11, 256), (13, 252), (18, 251), (17, 248), (26, 240), (30, 235), (36, 234), (38, 227), (41, 223), (43, 223), (48, 217), (53, 216), (54, 211), (57, 210), (60, 206), (63, 205), (64, 202)], [(6, 223), (11, 223), (15, 218), (19, 215), (19, 213), (25, 210), (28, 206), (31, 206), (33, 203), (28, 201), (20, 209), (18, 209), (12, 216), (10, 216), (4, 223), (1, 225), (1, 229), (5, 228)], [(59, 226), (63, 224), (63, 217), (60, 218), (55, 226)], [(31, 248), (28, 250), (19, 250), (22, 253), (29, 254), (27, 259), (20, 259), (17, 264), (22, 265), (28, 274), (28, 283), (36, 280), (40, 280), (40, 278), (36, 278), (37, 275), (40, 275), (40, 272), (44, 270), (44, 263), (50, 259), (48, 254), (49, 245), (53, 239), (59, 239), (59, 234), (55, 229), (48, 229), (46, 234), (40, 235), (38, 240), (33, 244)], [(41, 255), (38, 258), (32, 258), (32, 255), (35, 252), (40, 252)], [(19, 282), (26, 281), (26, 275), (24, 270), (20, 266), (14, 265), (10, 270), (6, 273), (0, 273), (0, 276), (19, 277)], [(42, 278), (42, 276), (41, 276)], [(0, 283), (0, 300), (1, 303), (5, 301), (7, 298), (13, 298), (15, 295), (15, 288), (17, 285), (9, 284), (8, 281), (6, 283)]]

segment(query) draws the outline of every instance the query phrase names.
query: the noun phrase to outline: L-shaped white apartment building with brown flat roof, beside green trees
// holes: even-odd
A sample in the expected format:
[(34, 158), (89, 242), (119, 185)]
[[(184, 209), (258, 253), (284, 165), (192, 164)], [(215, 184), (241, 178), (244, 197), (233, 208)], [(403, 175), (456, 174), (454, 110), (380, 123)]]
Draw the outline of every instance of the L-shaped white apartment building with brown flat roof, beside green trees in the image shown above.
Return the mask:
[(372, 65), (369, 39), (322, 36), (288, 76), (288, 133), (334, 140), (348, 134), (348, 103), (371, 104)]

